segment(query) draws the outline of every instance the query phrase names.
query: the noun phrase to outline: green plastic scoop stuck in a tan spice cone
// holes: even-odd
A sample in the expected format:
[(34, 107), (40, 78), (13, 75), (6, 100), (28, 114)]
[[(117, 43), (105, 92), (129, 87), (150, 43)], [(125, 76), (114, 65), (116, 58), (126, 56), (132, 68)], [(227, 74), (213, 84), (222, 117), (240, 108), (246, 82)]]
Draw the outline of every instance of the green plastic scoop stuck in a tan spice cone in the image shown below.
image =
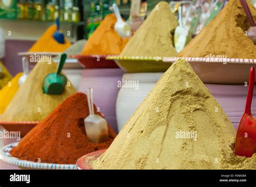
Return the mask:
[(66, 77), (61, 73), (64, 63), (66, 61), (66, 54), (60, 56), (60, 60), (56, 73), (48, 74), (44, 77), (43, 92), (50, 95), (60, 95), (65, 89)]

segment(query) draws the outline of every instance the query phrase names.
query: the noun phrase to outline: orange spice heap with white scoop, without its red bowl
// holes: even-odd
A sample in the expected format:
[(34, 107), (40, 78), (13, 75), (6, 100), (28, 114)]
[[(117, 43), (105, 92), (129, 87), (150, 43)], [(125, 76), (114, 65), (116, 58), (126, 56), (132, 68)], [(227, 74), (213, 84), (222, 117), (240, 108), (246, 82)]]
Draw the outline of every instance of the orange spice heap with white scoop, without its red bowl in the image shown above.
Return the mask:
[(80, 54), (119, 55), (129, 39), (121, 38), (114, 31), (116, 22), (117, 18), (114, 14), (107, 15), (87, 40)]

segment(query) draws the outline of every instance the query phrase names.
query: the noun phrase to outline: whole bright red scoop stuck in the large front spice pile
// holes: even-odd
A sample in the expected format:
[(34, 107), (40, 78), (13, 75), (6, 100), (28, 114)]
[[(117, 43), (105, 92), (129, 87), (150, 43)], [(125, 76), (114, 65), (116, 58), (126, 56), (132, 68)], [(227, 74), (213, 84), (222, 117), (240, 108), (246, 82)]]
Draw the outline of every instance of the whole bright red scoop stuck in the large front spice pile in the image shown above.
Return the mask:
[(235, 155), (239, 156), (251, 157), (256, 150), (256, 118), (251, 113), (254, 77), (255, 70), (251, 67), (245, 113), (240, 120), (235, 139)]

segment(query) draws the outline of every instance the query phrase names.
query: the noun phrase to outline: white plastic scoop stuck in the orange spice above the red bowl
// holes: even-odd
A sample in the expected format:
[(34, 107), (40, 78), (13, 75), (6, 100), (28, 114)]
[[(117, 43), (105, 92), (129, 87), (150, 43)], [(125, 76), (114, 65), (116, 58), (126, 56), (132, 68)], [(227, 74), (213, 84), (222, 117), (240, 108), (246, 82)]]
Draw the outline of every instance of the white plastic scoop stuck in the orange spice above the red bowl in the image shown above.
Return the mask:
[(114, 24), (114, 31), (116, 31), (122, 38), (131, 37), (131, 28), (125, 21), (123, 21), (116, 3), (113, 4), (113, 10), (117, 18), (117, 23)]

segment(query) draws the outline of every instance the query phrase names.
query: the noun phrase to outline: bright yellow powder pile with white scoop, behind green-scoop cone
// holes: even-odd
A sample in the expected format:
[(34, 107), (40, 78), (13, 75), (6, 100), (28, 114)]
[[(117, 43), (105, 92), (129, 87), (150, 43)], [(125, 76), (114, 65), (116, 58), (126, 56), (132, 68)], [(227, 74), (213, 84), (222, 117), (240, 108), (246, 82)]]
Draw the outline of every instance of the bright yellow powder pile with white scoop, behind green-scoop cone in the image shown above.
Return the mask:
[(12, 80), (6, 84), (2, 90), (0, 90), (0, 114), (4, 112), (8, 104), (11, 102), (12, 97), (14, 97), (15, 93), (19, 89), (19, 77), (21, 77), (23, 73), (18, 73)]

